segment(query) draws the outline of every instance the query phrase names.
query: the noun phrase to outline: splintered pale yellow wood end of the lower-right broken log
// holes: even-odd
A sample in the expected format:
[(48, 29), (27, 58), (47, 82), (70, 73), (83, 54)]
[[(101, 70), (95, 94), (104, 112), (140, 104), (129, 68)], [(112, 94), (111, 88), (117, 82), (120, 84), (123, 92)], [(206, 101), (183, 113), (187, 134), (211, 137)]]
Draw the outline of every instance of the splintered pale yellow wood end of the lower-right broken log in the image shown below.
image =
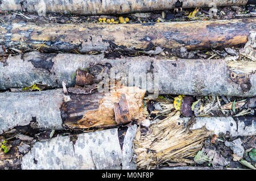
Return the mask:
[(172, 112), (166, 119), (152, 124), (146, 134), (140, 129), (134, 140), (138, 169), (154, 169), (166, 162), (193, 163), (194, 157), (210, 135), (205, 128), (189, 131), (179, 119), (180, 112)]

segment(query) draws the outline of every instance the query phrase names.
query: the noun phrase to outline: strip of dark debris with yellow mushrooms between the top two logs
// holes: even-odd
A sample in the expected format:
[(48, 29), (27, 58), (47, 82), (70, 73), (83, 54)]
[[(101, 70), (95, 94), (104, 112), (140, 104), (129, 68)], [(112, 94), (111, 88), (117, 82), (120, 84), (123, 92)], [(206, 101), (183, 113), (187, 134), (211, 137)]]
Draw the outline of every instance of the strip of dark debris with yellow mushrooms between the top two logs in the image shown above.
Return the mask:
[[(182, 2), (181, 2), (182, 4)], [(182, 9), (180, 3), (177, 3), (175, 10), (164, 10), (154, 12), (137, 12), (135, 14), (122, 15), (100, 15), (85, 16), (72, 14), (46, 14), (46, 16), (38, 16), (30, 12), (7, 12), (1, 11), (1, 22), (35, 22), (35, 23), (156, 23), (158, 18), (168, 21), (188, 21), (188, 20), (209, 20), (209, 19), (232, 19), (241, 15), (255, 16), (255, 5), (247, 6), (226, 6), (217, 7), (217, 13), (210, 16), (210, 8)], [(194, 12), (195, 11), (195, 12)], [(194, 14), (193, 14), (194, 12)], [(193, 14), (193, 17), (189, 16)], [(125, 21), (128, 18), (128, 22)], [(105, 19), (105, 21), (104, 21)], [(112, 20), (113, 19), (113, 20)], [(122, 21), (123, 19), (123, 21)], [(121, 21), (120, 21), (121, 20)]]

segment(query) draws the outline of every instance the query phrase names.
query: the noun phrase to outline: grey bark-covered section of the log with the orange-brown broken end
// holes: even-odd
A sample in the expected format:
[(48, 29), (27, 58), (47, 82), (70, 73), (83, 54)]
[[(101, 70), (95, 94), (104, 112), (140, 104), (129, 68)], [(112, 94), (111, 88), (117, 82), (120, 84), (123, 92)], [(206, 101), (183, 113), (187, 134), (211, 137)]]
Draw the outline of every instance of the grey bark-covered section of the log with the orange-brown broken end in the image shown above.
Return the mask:
[(38, 129), (63, 129), (60, 116), (63, 98), (61, 89), (0, 93), (0, 134), (30, 124), (32, 117), (36, 118), (34, 126)]

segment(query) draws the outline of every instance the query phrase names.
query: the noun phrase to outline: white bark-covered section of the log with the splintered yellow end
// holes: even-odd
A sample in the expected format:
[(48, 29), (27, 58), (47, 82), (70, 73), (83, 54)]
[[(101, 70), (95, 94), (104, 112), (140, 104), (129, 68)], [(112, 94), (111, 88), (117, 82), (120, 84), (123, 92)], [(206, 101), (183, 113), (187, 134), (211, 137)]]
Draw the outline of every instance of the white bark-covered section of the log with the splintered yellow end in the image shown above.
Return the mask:
[[(184, 126), (189, 117), (183, 117)], [(195, 117), (196, 122), (191, 129), (206, 127), (214, 134), (228, 134), (229, 136), (254, 136), (256, 135), (256, 117)], [(235, 120), (236, 119), (236, 120)]]

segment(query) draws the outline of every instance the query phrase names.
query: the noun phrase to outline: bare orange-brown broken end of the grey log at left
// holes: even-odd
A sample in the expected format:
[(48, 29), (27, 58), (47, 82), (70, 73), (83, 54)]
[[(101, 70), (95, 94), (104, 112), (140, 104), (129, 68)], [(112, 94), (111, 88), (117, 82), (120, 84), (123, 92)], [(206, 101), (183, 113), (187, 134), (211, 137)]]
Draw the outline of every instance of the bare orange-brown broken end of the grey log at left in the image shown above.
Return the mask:
[[(143, 97), (145, 90), (138, 87), (122, 87), (106, 93), (71, 95), (71, 102), (64, 103), (63, 110), (66, 113), (64, 125), (69, 128), (109, 127), (118, 123), (129, 123), (130, 119), (143, 119)], [(122, 96), (125, 96), (125, 98)], [(121, 99), (121, 100), (120, 100)], [(127, 100), (127, 104), (121, 102)], [(121, 102), (120, 102), (121, 101)], [(115, 115), (114, 104), (119, 102), (122, 112)], [(121, 103), (121, 104), (120, 104)], [(124, 107), (120, 107), (120, 105)], [(127, 112), (128, 111), (128, 112)], [(126, 112), (125, 117), (120, 113)]]

